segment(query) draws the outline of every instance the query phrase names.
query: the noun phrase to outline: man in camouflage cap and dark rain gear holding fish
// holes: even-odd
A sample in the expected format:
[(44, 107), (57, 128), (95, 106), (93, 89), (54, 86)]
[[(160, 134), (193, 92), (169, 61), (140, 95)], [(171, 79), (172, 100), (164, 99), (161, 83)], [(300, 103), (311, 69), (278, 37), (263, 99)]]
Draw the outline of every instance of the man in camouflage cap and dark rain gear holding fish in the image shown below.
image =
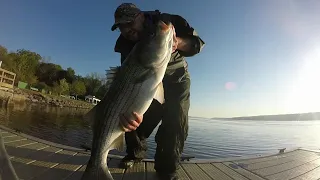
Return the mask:
[(115, 52), (121, 54), (121, 63), (152, 24), (163, 20), (174, 26), (175, 43), (163, 79), (165, 103), (161, 105), (153, 100), (144, 115), (135, 114), (136, 119), (121, 116), (120, 122), (126, 129), (127, 143), (127, 156), (121, 165), (128, 167), (145, 157), (146, 138), (162, 120), (156, 134), (155, 170), (164, 179), (177, 179), (175, 173), (188, 135), (190, 106), (190, 75), (185, 57), (198, 54), (204, 42), (188, 22), (178, 15), (159, 11), (143, 12), (134, 4), (123, 3), (116, 9), (114, 17), (111, 30), (119, 28), (121, 32), (115, 44)]

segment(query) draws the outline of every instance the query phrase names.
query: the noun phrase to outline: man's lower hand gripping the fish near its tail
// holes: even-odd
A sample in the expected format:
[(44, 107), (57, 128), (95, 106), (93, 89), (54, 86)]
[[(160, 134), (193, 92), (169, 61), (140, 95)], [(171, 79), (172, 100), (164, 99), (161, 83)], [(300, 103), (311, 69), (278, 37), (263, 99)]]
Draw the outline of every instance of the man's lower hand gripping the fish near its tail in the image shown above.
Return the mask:
[(123, 127), (125, 132), (130, 132), (136, 130), (143, 120), (143, 115), (133, 112), (135, 119), (128, 119), (123, 114), (120, 115), (120, 125)]

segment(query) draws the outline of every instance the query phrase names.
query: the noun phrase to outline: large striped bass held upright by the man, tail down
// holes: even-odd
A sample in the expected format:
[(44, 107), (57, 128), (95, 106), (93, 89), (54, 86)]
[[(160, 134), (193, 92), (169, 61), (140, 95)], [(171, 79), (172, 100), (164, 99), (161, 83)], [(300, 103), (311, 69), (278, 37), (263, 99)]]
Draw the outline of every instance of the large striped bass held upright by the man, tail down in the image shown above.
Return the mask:
[[(91, 156), (82, 180), (113, 180), (107, 166), (110, 150), (124, 150), (124, 129), (119, 115), (134, 119), (144, 114), (155, 98), (164, 102), (162, 79), (171, 58), (173, 29), (159, 21), (120, 66), (105, 97), (94, 107)], [(90, 112), (89, 112), (90, 113)]]

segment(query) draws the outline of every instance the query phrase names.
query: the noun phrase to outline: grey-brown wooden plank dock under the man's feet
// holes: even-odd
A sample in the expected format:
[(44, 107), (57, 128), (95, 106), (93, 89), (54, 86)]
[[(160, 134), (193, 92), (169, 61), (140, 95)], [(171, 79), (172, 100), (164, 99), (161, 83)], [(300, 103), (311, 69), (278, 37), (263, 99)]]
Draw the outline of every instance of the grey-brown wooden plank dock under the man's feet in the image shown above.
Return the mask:
[[(3, 126), (0, 126), (0, 130), (6, 151), (20, 179), (79, 180), (89, 160), (90, 152), (85, 150), (44, 141)], [(114, 179), (157, 179), (152, 160), (146, 159), (124, 170), (117, 168), (120, 159), (116, 155), (109, 156), (108, 166)], [(181, 162), (178, 175), (185, 180), (320, 179), (320, 152), (297, 149), (246, 159), (190, 160)]]

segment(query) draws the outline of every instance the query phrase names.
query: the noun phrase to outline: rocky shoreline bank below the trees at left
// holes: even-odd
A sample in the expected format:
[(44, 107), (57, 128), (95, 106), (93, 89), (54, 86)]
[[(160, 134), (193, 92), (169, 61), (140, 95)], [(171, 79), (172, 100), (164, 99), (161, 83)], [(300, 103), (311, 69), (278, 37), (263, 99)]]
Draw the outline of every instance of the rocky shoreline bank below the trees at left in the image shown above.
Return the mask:
[(40, 92), (26, 89), (0, 89), (0, 103), (2, 105), (34, 103), (39, 105), (50, 105), (54, 107), (70, 107), (91, 109), (93, 104), (82, 100), (68, 99), (65, 97), (42, 94)]

